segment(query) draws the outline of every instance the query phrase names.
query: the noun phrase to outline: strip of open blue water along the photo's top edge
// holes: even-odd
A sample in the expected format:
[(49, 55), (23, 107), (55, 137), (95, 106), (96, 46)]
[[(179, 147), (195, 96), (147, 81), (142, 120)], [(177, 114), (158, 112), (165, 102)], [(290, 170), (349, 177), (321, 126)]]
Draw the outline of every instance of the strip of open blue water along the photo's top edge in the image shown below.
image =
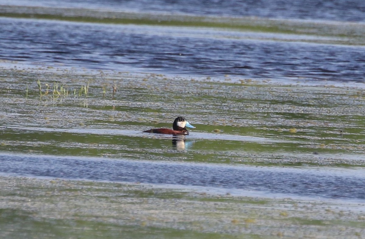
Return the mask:
[(77, 7), (95, 9), (118, 9), (120, 11), (154, 11), (188, 13), (195, 15), (258, 16), (283, 19), (322, 19), (340, 21), (365, 21), (365, 3), (362, 0), (83, 0), (83, 1), (27, 1), (1, 0), (1, 5), (29, 5), (48, 7)]

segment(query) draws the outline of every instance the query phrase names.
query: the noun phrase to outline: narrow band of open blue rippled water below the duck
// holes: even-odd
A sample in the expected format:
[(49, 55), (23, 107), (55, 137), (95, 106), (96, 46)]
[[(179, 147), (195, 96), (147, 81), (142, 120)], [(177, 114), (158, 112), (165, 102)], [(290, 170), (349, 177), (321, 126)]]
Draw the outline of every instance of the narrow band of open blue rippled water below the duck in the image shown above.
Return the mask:
[[(288, 169), (195, 163), (1, 154), (1, 172), (38, 177), (192, 185), (331, 199), (365, 199), (361, 171)], [(142, 170), (143, 169), (143, 170)]]

